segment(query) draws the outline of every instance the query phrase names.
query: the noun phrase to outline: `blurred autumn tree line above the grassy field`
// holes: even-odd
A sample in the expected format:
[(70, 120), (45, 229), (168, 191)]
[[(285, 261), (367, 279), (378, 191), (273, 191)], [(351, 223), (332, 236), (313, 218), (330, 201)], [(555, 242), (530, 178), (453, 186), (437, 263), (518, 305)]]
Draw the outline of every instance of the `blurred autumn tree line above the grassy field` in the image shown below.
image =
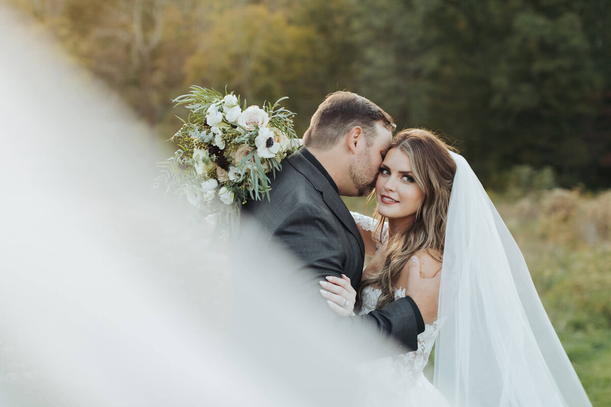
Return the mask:
[(10, 0), (50, 27), (159, 134), (188, 85), (289, 96), (298, 133), (324, 95), (458, 140), (485, 185), (516, 164), (561, 186), (611, 180), (607, 0)]

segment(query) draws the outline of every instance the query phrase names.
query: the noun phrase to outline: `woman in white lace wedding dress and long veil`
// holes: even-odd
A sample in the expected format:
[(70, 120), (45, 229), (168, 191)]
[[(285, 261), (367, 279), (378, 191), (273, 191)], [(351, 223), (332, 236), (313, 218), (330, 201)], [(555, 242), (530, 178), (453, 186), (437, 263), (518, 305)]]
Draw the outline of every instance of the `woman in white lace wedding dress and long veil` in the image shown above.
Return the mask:
[[(327, 278), (334, 285), (321, 294), (342, 316), (355, 297), (367, 314), (405, 295), (410, 268), (441, 275), (437, 320), (418, 349), (375, 364), (396, 372), (406, 405), (591, 406), (513, 237), (469, 164), (448, 150), (423, 129), (395, 137), (376, 182), (381, 219), (352, 212), (373, 256), (359, 293), (347, 278)], [(423, 369), (434, 344), (433, 386)]]

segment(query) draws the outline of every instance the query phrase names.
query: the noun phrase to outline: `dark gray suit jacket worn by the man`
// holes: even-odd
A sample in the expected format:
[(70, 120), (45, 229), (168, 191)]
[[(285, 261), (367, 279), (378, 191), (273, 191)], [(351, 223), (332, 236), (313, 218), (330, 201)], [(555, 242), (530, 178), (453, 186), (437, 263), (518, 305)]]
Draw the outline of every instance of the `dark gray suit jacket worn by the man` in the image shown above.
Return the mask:
[[(312, 271), (312, 290), (325, 276), (345, 274), (356, 289), (365, 258), (359, 229), (348, 208), (325, 176), (303, 154), (282, 162), (271, 182), (270, 201), (248, 201), (243, 213), (266, 228), (271, 239), (289, 248)], [(356, 317), (374, 323), (382, 334), (415, 350), (423, 331), (420, 312), (411, 298)], [(419, 326), (422, 325), (422, 326)]]

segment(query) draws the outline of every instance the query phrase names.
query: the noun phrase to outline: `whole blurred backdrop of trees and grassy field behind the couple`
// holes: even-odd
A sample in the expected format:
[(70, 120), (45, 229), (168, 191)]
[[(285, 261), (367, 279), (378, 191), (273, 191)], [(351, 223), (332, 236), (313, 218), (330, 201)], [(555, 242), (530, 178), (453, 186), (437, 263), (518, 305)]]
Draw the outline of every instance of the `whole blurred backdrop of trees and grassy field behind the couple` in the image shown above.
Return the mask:
[(249, 104), (289, 96), (298, 134), (327, 93), (351, 90), (398, 128), (456, 140), (593, 405), (609, 405), (609, 0), (7, 1), (163, 139), (185, 116), (171, 100), (196, 84)]

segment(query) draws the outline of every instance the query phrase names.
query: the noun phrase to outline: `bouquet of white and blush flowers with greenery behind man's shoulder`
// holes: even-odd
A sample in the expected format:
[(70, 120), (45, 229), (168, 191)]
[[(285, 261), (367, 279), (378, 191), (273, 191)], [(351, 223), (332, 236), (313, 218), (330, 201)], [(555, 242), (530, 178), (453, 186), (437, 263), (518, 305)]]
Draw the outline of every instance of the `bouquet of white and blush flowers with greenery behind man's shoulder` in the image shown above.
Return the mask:
[[(299, 148), (293, 129), (295, 113), (279, 99), (263, 108), (241, 106), (240, 96), (192, 86), (174, 102), (190, 110), (170, 140), (178, 144), (157, 184), (185, 196), (221, 232), (235, 233), (246, 200), (269, 199), (269, 176)], [(225, 227), (229, 226), (229, 228)]]

